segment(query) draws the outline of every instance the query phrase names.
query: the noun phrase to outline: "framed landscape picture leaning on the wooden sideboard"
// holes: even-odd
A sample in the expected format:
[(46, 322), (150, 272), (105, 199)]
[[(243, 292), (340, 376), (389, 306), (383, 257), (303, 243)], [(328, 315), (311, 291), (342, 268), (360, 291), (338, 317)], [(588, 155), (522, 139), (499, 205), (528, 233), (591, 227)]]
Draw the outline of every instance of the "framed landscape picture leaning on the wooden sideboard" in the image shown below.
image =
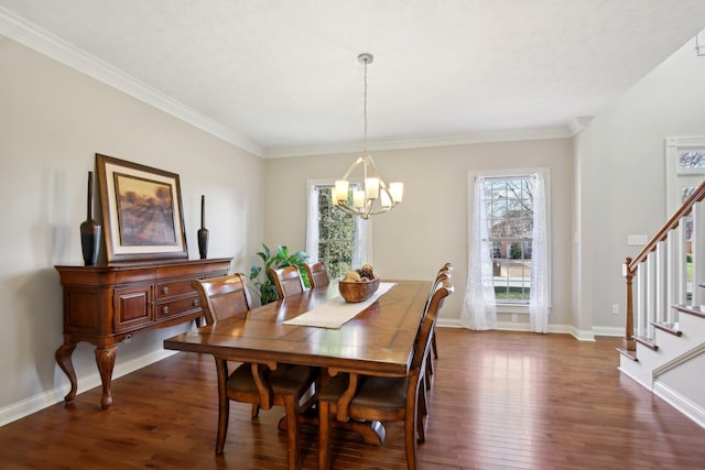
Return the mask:
[(108, 262), (188, 258), (178, 175), (96, 154)]

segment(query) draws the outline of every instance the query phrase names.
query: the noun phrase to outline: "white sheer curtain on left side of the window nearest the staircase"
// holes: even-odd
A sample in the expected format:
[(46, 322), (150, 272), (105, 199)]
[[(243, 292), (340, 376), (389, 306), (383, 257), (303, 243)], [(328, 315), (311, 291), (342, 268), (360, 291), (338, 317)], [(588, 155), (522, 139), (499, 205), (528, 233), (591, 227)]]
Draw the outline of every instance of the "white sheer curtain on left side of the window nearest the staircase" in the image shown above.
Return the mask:
[(475, 330), (497, 328), (497, 304), (492, 278), (491, 243), (487, 231), (485, 178), (475, 178), (473, 227), (468, 254), (467, 289), (460, 325)]

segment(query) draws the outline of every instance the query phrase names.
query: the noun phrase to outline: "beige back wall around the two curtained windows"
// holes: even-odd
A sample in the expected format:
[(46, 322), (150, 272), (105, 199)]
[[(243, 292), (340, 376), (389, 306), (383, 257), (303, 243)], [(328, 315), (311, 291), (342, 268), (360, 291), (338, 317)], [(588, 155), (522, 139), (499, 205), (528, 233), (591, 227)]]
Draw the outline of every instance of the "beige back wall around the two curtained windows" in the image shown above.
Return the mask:
[[(388, 278), (433, 278), (451, 261), (456, 293), (440, 321), (457, 324), (467, 280), (468, 172), (551, 168), (554, 329), (570, 330), (573, 200), (572, 140), (488, 143), (463, 146), (370, 152), (381, 175), (404, 183), (404, 201), (376, 216), (376, 271)], [(343, 176), (356, 155), (273, 159), (265, 162), (265, 239), (271, 245), (305, 248), (306, 182)], [(500, 316), (509, 321), (510, 316)], [(521, 324), (521, 325), (520, 325)], [(528, 324), (520, 316), (517, 327)], [(511, 325), (508, 325), (511, 327)]]

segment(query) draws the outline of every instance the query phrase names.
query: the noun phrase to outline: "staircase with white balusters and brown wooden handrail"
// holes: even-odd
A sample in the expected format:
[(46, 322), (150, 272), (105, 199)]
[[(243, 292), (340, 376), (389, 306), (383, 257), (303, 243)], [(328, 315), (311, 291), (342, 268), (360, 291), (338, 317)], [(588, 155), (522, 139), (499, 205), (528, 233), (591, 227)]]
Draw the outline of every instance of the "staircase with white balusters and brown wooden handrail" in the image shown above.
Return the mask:
[[(619, 370), (705, 427), (705, 182), (633, 259)], [(636, 292), (634, 292), (636, 288)]]

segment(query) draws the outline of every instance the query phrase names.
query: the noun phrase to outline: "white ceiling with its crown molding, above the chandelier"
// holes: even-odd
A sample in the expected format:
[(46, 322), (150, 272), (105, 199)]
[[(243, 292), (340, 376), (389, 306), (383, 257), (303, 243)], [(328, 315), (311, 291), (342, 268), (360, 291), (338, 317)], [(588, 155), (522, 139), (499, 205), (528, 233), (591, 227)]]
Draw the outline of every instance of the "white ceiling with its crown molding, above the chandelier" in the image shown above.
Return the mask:
[(360, 149), (359, 53), (368, 147), (423, 146), (570, 135), (703, 29), (703, 0), (0, 0), (0, 34), (260, 156)]

